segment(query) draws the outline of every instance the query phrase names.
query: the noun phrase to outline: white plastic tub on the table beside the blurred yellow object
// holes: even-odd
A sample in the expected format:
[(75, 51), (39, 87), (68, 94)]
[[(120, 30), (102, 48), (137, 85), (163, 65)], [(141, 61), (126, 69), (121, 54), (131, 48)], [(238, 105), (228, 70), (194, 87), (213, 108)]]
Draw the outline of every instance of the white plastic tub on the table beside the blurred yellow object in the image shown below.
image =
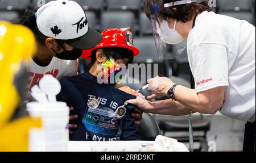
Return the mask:
[(31, 117), (41, 118), (42, 129), (30, 132), (30, 151), (66, 152), (69, 141), (69, 107), (64, 102), (27, 103)]

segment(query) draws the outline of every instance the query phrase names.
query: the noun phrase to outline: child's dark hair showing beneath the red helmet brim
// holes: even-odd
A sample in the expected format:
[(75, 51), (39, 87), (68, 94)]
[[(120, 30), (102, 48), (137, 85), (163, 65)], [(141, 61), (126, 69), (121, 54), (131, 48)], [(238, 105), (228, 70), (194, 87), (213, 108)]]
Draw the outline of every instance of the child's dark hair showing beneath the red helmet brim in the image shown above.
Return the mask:
[[(133, 63), (133, 59), (134, 59), (134, 55), (133, 55), (133, 51), (127, 48), (120, 48), (120, 47), (109, 47), (109, 48), (101, 48), (104, 52), (104, 55), (110, 59), (111, 57), (116, 61), (119, 59), (124, 59), (124, 58), (128, 58), (129, 61), (127, 62), (127, 64), (132, 64)], [(96, 52), (98, 51), (98, 49), (94, 49), (92, 51), (92, 65), (96, 62)]]

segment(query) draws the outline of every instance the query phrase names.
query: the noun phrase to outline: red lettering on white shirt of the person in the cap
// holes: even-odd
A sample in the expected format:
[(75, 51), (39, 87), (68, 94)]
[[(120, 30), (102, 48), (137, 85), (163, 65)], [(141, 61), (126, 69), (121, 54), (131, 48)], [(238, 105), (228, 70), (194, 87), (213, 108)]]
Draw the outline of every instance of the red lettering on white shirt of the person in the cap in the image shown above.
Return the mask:
[[(46, 75), (48, 75), (48, 74), (52, 75), (55, 78), (57, 78), (57, 75), (59, 74), (59, 70), (58, 69), (51, 70), (51, 71), (46, 73)], [(31, 91), (32, 87), (37, 82), (39, 82), (41, 78), (44, 77), (44, 74), (28, 72), (27, 76), (28, 76), (28, 83), (27, 83), (27, 87), (26, 87), (25, 91)]]

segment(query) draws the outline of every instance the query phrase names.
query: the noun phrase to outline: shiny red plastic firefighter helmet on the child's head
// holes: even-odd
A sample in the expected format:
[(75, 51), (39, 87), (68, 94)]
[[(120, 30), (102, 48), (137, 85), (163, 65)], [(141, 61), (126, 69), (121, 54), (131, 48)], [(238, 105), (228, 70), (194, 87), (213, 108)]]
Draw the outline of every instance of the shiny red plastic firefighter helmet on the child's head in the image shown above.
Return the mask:
[(111, 28), (102, 32), (101, 42), (92, 49), (82, 51), (82, 57), (91, 60), (91, 53), (94, 49), (119, 47), (133, 51), (133, 55), (137, 56), (139, 50), (133, 46), (133, 33), (130, 27), (127, 28)]

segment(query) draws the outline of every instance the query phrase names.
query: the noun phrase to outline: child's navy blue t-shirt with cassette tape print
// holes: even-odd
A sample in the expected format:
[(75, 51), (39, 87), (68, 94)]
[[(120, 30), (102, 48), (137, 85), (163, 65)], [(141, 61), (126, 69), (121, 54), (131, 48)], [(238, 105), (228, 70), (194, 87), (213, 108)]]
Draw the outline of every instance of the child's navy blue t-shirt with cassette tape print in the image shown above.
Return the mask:
[[(134, 124), (135, 118), (131, 116), (135, 112), (135, 106), (125, 106), (126, 113), (122, 118), (117, 115), (117, 109), (122, 107), (125, 101), (136, 98), (135, 96), (113, 86), (98, 83), (97, 78), (89, 72), (64, 78), (60, 83), (61, 92), (57, 95), (57, 100), (74, 107), (71, 115), (79, 116), (70, 122), (78, 126), (71, 129), (71, 140), (141, 140), (139, 128)], [(88, 107), (90, 98), (98, 99), (97, 108)]]

